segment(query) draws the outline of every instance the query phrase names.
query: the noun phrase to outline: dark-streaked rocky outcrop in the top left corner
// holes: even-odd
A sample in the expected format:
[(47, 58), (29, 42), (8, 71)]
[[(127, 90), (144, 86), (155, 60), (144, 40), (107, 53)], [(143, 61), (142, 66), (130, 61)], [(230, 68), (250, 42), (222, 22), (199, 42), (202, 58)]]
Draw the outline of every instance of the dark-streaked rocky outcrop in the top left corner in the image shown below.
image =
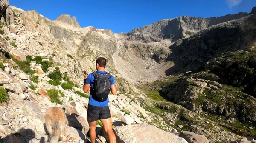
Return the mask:
[(10, 7), (9, 0), (0, 0), (0, 19), (2, 23), (8, 25), (14, 23), (12, 8)]

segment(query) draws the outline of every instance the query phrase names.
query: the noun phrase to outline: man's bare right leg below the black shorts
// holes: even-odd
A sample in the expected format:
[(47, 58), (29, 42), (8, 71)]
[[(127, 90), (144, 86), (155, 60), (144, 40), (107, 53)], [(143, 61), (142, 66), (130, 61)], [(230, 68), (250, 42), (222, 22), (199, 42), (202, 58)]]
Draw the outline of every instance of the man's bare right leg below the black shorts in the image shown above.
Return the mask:
[(105, 132), (108, 134), (108, 140), (110, 143), (116, 143), (116, 135), (114, 134), (111, 126), (111, 118), (100, 119)]

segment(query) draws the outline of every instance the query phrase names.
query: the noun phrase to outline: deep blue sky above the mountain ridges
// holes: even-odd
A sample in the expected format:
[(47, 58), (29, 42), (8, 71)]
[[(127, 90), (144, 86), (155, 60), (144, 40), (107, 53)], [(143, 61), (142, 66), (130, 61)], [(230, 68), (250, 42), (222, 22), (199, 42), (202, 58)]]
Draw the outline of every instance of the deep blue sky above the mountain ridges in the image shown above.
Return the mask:
[(81, 27), (128, 32), (158, 20), (183, 15), (220, 17), (251, 11), (256, 0), (9, 0), (25, 11), (36, 10), (55, 20), (61, 14), (75, 16)]

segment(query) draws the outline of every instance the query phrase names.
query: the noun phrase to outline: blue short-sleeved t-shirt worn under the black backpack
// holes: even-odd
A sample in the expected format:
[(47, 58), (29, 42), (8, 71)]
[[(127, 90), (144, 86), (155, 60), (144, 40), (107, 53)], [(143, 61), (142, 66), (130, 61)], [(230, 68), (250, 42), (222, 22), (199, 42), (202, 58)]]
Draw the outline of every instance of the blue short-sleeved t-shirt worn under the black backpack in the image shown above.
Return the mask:
[[(97, 73), (99, 74), (107, 74), (108, 72), (106, 71), (97, 71)], [(113, 76), (110, 76), (110, 80), (111, 80), (111, 85), (115, 84), (115, 79)], [(85, 81), (87, 84), (90, 84), (90, 87), (93, 87), (93, 84), (94, 84), (94, 76), (93, 76), (93, 73), (90, 73)], [(93, 96), (90, 94), (90, 97), (89, 97), (89, 105), (92, 105), (92, 106), (97, 106), (97, 107), (105, 107), (105, 106), (108, 106), (108, 98), (107, 100), (105, 101), (96, 101)]]

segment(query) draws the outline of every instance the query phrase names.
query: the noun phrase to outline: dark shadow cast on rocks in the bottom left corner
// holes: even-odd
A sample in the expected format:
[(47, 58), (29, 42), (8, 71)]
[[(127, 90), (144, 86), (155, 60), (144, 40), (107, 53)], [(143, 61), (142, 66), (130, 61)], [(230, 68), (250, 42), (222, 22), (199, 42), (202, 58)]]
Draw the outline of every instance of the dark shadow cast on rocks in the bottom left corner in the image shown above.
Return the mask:
[[(34, 138), (35, 132), (32, 129), (21, 128), (18, 132), (0, 139), (0, 143), (29, 143)], [(44, 137), (41, 137), (40, 143), (44, 143)]]

